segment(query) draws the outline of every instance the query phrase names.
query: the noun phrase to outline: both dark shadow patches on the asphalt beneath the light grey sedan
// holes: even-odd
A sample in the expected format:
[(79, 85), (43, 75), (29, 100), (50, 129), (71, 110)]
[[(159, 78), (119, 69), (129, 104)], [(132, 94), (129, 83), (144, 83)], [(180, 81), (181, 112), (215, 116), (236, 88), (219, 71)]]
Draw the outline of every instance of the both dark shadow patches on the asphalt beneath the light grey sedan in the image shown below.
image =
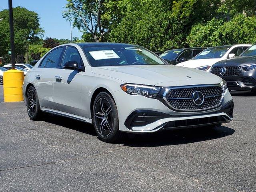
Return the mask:
[[(45, 122), (72, 129), (84, 134), (97, 136), (92, 124), (54, 115), (48, 114), (44, 118)], [(190, 128), (180, 130), (166, 130), (150, 134), (127, 134), (124, 140), (114, 142), (114, 144), (123, 144), (130, 147), (157, 147), (166, 145), (180, 145), (194, 142), (213, 140), (217, 138), (232, 135), (234, 129), (226, 126), (216, 128)], [(98, 137), (97, 137), (98, 138)]]

